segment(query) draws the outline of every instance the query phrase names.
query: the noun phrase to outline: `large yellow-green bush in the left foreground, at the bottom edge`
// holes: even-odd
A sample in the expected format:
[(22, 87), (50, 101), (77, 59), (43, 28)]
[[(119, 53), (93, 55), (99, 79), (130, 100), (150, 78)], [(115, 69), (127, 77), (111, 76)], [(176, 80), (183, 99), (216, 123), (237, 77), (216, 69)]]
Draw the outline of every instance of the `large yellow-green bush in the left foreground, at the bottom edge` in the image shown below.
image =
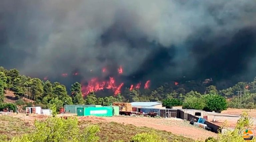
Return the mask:
[(78, 119), (49, 117), (45, 121), (35, 122), (36, 130), (31, 134), (14, 137), (12, 142), (97, 142), (99, 126), (91, 125), (81, 133)]

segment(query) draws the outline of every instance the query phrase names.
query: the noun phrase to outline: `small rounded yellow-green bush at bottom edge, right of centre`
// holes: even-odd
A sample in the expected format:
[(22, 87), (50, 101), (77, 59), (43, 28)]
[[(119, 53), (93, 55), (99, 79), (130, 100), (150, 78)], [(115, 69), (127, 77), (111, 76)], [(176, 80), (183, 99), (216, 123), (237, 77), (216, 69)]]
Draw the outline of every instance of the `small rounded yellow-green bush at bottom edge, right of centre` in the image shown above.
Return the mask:
[(132, 137), (131, 142), (167, 142), (156, 133), (140, 133)]

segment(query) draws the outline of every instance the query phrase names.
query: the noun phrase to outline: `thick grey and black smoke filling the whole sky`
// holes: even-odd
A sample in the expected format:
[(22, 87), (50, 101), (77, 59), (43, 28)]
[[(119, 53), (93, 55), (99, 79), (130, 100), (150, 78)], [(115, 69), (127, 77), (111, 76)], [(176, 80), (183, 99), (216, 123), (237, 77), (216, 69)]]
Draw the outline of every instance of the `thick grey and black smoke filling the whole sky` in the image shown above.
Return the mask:
[(0, 1), (0, 66), (33, 77), (252, 79), (255, 61), (255, 0)]

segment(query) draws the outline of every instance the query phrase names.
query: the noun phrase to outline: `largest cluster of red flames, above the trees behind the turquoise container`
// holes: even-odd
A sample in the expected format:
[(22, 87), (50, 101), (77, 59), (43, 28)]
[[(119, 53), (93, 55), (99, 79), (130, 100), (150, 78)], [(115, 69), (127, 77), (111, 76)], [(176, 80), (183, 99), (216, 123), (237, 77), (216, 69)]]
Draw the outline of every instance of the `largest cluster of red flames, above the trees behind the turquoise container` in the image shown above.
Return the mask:
[(112, 89), (114, 91), (114, 94), (117, 95), (121, 92), (121, 88), (124, 85), (124, 83), (121, 83), (120, 85), (115, 85), (115, 79), (114, 77), (109, 77), (108, 81), (100, 81), (98, 78), (92, 78), (87, 86), (82, 85), (82, 92), (83, 95), (87, 95), (90, 92), (96, 92), (103, 89)]

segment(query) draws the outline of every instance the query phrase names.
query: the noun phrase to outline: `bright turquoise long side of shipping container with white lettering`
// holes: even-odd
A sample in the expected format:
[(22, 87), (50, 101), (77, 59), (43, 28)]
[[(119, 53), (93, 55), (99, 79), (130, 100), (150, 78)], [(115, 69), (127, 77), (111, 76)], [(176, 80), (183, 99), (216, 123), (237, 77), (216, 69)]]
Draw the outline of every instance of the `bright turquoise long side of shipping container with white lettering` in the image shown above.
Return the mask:
[(84, 116), (112, 117), (112, 107), (87, 107), (84, 108)]

